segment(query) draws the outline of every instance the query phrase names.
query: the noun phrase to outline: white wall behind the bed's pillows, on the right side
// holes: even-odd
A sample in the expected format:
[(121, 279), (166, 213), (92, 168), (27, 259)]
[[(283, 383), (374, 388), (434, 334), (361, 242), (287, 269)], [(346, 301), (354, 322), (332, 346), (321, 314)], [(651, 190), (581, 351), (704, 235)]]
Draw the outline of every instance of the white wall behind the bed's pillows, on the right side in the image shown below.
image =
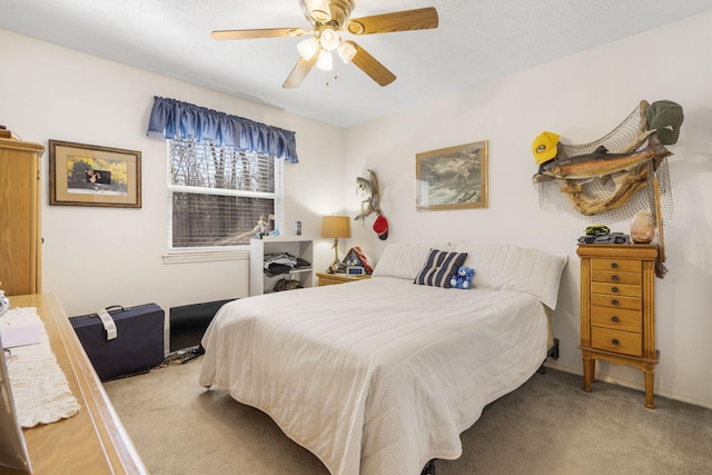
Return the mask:
[[(669, 274), (656, 280), (657, 394), (712, 407), (712, 12), (513, 75), (404, 113), (350, 128), (346, 182), (374, 169), (389, 220), (387, 241), (370, 227), (355, 240), (373, 258), (392, 241), (477, 241), (531, 246), (568, 256), (554, 334), (562, 355), (552, 367), (581, 374), (580, 264), (586, 222), (540, 210), (531, 178), (534, 138), (586, 144), (614, 129), (637, 106), (669, 99), (685, 120), (670, 172), (673, 218), (664, 225)], [(490, 145), (488, 209), (416, 212), (415, 155), (479, 140)], [(354, 189), (354, 188), (350, 188)], [(345, 192), (355, 215), (358, 201)], [(373, 225), (373, 219), (368, 221)], [(629, 221), (612, 222), (629, 232)], [(643, 387), (642, 372), (600, 363), (599, 377)], [(594, 385), (595, 388), (595, 385)], [(642, 404), (642, 403), (641, 403)]]

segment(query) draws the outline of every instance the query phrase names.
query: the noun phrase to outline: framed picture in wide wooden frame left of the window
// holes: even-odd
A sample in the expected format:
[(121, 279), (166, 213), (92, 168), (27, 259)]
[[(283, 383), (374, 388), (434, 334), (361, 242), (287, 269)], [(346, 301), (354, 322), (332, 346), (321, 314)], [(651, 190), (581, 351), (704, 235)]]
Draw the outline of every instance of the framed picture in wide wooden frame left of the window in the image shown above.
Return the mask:
[(141, 207), (141, 152), (49, 141), (49, 204)]

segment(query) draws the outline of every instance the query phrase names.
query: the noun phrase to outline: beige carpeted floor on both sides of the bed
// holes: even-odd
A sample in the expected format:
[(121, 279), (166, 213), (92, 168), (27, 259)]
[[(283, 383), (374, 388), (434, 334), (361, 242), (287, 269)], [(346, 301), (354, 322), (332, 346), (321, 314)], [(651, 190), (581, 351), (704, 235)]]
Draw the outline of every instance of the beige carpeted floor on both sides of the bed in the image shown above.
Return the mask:
[[(264, 413), (198, 386), (201, 358), (105, 384), (154, 475), (328, 474)], [(553, 369), (487, 406), (437, 475), (712, 474), (712, 409)], [(387, 475), (387, 474), (384, 474)]]

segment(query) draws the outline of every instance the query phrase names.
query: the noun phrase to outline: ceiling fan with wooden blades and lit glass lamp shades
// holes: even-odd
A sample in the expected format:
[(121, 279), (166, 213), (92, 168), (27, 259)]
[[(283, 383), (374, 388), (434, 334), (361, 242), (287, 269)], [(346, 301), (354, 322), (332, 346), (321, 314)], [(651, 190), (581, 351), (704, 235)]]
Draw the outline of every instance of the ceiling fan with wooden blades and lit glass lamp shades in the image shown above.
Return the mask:
[(299, 0), (299, 3), (304, 16), (312, 24), (312, 30), (304, 28), (217, 30), (212, 31), (211, 37), (215, 40), (246, 40), (309, 34), (309, 38), (297, 44), (299, 60), (281, 86), (286, 89), (298, 88), (315, 65), (318, 69), (326, 71), (334, 69), (334, 51), (345, 63), (353, 61), (378, 85), (387, 86), (395, 81), (395, 75), (355, 41), (342, 39), (340, 33), (358, 36), (425, 30), (437, 28), (438, 23), (434, 7), (350, 18), (354, 9), (353, 0)]

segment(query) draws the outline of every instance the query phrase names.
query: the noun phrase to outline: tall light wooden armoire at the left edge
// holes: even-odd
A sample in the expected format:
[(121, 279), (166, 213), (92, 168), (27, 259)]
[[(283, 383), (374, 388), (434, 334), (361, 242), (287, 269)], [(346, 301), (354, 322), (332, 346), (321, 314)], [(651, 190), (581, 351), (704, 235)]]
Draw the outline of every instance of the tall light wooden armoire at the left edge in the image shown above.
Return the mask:
[(44, 147), (0, 138), (0, 289), (42, 291), (40, 167)]

